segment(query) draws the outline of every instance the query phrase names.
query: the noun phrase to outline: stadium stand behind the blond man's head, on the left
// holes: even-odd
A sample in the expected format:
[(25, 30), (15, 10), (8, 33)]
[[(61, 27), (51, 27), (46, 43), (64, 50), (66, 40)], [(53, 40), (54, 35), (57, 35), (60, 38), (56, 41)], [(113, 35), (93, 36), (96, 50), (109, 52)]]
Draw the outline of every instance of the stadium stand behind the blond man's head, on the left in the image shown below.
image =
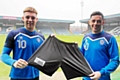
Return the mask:
[[(69, 26), (74, 20), (38, 19), (36, 30), (42, 34), (70, 34)], [(14, 27), (14, 28), (12, 28)], [(10, 30), (23, 27), (21, 17), (0, 16), (0, 34), (6, 34)]]

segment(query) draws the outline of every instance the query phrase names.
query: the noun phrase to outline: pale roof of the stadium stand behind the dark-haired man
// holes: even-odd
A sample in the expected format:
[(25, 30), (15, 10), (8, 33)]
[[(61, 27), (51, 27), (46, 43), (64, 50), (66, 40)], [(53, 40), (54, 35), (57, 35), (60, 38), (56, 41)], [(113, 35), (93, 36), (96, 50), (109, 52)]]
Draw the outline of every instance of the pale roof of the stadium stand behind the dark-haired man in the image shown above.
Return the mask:
[[(104, 16), (105, 23), (120, 23), (120, 13)], [(88, 23), (88, 19), (79, 20), (81, 23)]]

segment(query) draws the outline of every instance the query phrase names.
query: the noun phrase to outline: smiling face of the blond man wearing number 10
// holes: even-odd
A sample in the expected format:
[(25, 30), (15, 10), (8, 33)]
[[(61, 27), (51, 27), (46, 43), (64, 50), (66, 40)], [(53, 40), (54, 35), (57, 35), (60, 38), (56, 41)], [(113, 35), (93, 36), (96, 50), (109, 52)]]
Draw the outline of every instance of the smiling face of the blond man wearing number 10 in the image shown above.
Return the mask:
[(34, 31), (36, 23), (38, 21), (37, 14), (32, 12), (25, 12), (22, 20), (24, 22), (24, 26), (29, 31)]

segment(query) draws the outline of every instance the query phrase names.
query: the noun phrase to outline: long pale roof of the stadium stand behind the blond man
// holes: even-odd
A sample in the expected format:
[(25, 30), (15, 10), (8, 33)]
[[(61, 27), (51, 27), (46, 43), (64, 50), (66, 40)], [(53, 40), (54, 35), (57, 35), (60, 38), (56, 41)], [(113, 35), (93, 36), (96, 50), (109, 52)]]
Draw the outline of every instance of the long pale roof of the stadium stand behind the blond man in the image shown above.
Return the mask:
[[(58, 20), (58, 19), (38, 19), (38, 22), (53, 22), (53, 23), (66, 23), (66, 24), (72, 24), (75, 23), (74, 20)], [(22, 18), (21, 17), (14, 17), (14, 16), (0, 16), (0, 24), (21, 24)]]

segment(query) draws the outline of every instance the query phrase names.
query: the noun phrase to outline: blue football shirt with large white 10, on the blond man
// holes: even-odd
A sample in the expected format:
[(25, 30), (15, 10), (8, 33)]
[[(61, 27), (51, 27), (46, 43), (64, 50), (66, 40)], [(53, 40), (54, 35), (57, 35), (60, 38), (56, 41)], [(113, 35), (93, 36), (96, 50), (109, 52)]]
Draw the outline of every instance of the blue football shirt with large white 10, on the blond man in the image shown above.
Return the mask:
[[(11, 66), (18, 59), (27, 61), (43, 41), (44, 36), (36, 31), (29, 32), (26, 28), (13, 30), (6, 38), (2, 52), (2, 61)], [(13, 59), (8, 56), (11, 50), (13, 50)], [(12, 66), (10, 72), (10, 77), (17, 79), (31, 79), (38, 76), (39, 70), (32, 66), (27, 66), (23, 69)]]

